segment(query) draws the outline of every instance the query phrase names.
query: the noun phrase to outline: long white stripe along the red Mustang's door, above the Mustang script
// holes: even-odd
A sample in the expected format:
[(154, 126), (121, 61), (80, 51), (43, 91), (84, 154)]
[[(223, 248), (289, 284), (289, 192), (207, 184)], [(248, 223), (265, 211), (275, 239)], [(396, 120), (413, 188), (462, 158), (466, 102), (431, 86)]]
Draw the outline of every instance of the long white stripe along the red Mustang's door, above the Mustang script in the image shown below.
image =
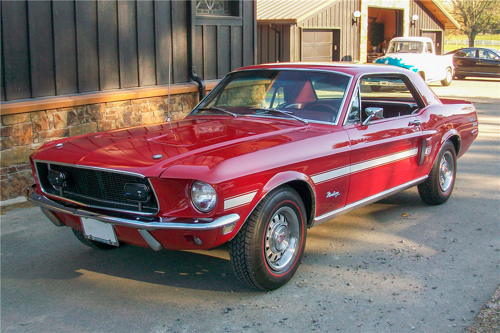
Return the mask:
[(385, 155), (382, 157), (377, 157), (371, 160), (350, 164), (344, 167), (340, 167), (338, 169), (326, 171), (323, 173), (315, 174), (311, 176), (314, 184), (320, 184), (326, 181), (333, 180), (335, 178), (339, 178), (351, 173), (356, 173), (360, 171), (364, 171), (367, 169), (371, 169), (377, 166), (381, 166), (387, 163), (399, 161), (408, 157), (416, 156), (418, 154), (418, 148), (411, 148), (408, 150), (400, 151), (398, 153)]

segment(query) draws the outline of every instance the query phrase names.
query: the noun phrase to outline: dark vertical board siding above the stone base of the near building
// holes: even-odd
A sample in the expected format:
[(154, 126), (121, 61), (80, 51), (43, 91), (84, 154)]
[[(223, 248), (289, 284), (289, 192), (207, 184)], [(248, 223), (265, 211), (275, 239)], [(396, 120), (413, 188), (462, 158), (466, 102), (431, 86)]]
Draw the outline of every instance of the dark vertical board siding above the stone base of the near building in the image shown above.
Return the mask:
[[(255, 1), (239, 2), (240, 17), (195, 20), (204, 79), (255, 62)], [(0, 6), (1, 101), (165, 84), (170, 48), (171, 82), (188, 81), (185, 0)]]

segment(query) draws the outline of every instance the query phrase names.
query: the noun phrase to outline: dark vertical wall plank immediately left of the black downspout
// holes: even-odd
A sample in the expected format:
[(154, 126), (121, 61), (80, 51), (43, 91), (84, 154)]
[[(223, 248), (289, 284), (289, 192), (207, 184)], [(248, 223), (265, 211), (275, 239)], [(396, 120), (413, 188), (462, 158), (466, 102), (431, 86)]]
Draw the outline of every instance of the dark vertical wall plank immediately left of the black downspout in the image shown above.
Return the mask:
[(173, 82), (187, 82), (186, 1), (172, 1)]

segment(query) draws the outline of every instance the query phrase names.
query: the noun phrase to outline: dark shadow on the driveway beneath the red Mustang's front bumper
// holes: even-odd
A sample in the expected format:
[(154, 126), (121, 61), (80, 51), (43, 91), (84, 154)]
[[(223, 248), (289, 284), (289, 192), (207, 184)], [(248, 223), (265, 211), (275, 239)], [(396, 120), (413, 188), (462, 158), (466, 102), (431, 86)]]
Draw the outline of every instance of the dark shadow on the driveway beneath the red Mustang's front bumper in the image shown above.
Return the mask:
[[(161, 286), (219, 291), (258, 292), (245, 287), (234, 275), (228, 260), (226, 246), (210, 251), (153, 251), (149, 248), (124, 245), (103, 251), (90, 249), (80, 244), (67, 228), (60, 234), (60, 243), (65, 248), (52, 249), (49, 264), (33, 267), (32, 261), (16, 260), (16, 265), (2, 269), (2, 278), (15, 280), (53, 281), (73, 280), (84, 276), (86, 279), (102, 280), (99, 275), (125, 280), (145, 282)], [(18, 242), (18, 234), (5, 236), (6, 242)], [(2, 242), (3, 242), (2, 237)], [(35, 256), (43, 257), (42, 254)], [(13, 258), (12, 258), (13, 259)], [(34, 265), (36, 266), (36, 264)], [(90, 274), (89, 274), (90, 273)], [(96, 273), (96, 274), (94, 274)]]

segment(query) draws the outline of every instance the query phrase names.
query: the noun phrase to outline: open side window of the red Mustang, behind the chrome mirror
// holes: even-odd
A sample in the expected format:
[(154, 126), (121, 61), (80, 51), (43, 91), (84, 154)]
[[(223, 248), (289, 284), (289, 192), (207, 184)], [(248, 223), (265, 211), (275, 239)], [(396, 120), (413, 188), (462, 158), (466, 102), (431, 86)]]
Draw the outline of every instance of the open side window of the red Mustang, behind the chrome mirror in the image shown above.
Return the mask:
[[(408, 82), (408, 83), (406, 83)], [(366, 108), (381, 107), (384, 118), (400, 117), (416, 113), (419, 99), (410, 89), (409, 81), (402, 75), (365, 76), (359, 81), (361, 121), (366, 118)]]

